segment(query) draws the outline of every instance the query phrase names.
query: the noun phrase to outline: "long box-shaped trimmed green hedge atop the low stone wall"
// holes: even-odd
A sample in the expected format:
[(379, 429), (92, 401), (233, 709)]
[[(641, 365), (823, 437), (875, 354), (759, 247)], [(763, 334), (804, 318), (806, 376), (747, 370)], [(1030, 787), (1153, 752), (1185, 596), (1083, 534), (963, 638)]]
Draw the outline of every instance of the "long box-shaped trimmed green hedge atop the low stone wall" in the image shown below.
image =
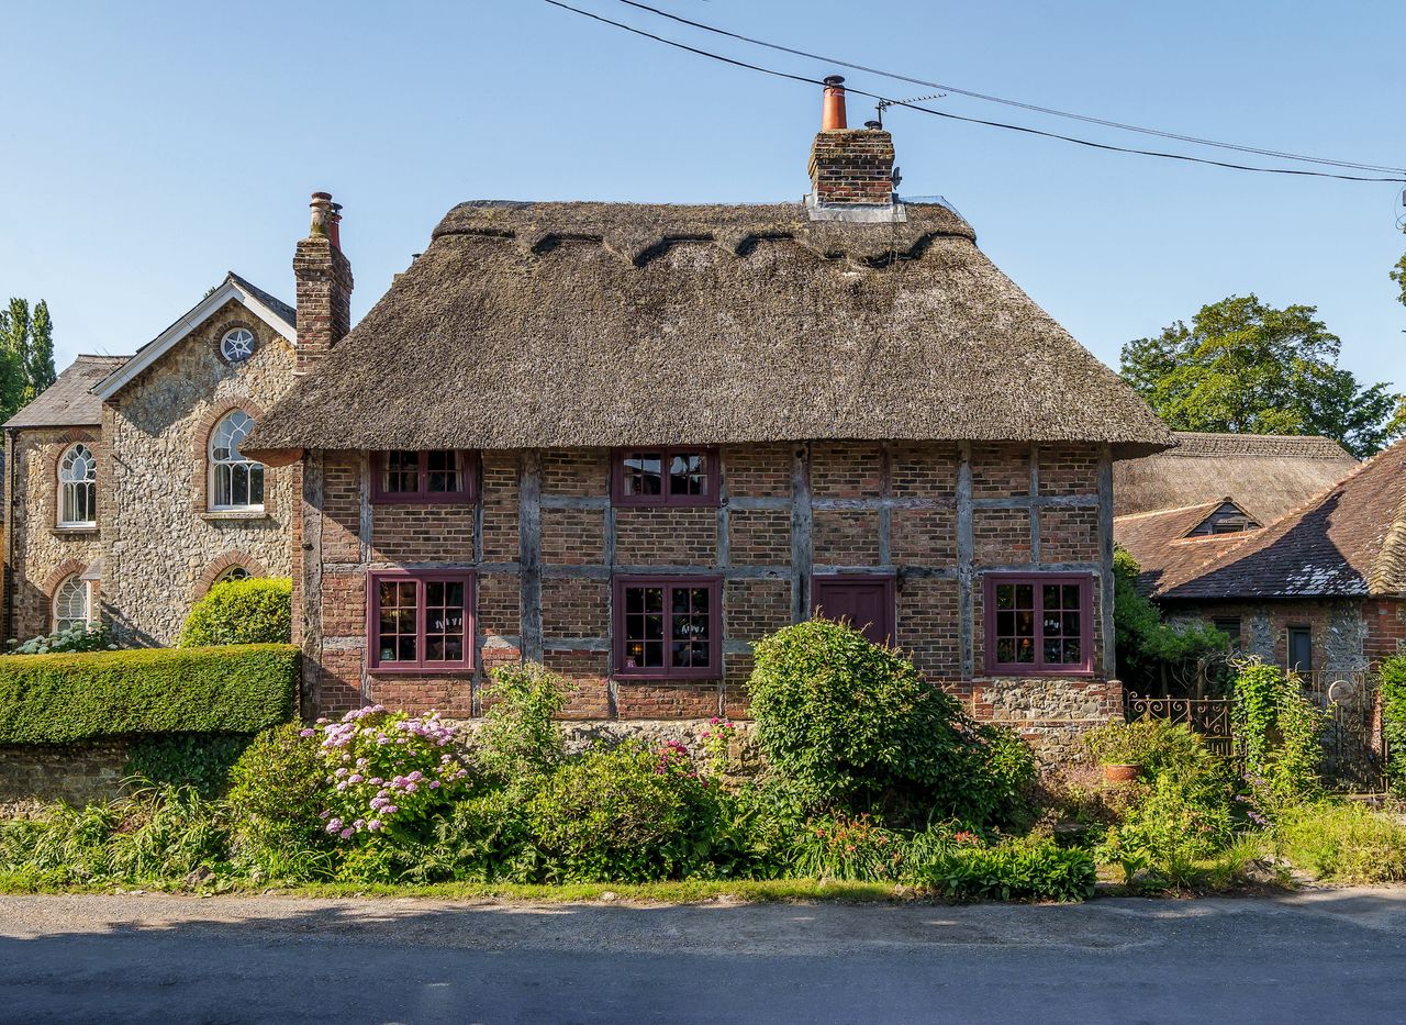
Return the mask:
[(292, 718), (298, 648), (145, 648), (0, 657), (0, 744), (257, 733)]

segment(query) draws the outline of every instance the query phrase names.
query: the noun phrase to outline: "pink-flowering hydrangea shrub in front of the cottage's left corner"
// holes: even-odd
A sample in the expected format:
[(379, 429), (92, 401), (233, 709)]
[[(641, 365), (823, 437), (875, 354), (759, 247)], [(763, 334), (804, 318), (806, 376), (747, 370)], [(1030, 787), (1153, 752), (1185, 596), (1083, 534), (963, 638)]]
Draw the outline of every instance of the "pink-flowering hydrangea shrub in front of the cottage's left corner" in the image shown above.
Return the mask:
[(423, 824), (468, 792), (456, 730), (439, 713), (412, 718), (373, 704), (302, 731), (319, 734), (330, 787), (321, 817), (339, 839)]

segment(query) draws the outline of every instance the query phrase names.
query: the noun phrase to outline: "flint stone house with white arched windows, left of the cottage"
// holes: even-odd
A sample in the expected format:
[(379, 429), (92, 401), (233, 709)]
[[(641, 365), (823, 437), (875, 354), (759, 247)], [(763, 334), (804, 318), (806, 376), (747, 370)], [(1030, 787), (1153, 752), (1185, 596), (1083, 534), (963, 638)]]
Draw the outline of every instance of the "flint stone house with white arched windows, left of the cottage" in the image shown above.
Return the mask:
[(80, 356), (6, 425), (6, 637), (170, 644), (228, 575), (291, 574), (295, 474), (239, 443), (294, 380), (294, 311), (236, 274), (134, 356)]

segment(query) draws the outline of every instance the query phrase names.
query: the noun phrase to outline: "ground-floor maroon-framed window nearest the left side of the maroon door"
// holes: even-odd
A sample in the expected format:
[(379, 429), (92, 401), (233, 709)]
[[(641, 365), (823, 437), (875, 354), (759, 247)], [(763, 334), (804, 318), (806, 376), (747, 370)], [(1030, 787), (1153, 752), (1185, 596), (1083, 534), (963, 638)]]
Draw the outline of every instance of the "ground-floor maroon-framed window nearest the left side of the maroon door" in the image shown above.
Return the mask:
[(616, 675), (630, 679), (721, 676), (721, 576), (616, 576)]

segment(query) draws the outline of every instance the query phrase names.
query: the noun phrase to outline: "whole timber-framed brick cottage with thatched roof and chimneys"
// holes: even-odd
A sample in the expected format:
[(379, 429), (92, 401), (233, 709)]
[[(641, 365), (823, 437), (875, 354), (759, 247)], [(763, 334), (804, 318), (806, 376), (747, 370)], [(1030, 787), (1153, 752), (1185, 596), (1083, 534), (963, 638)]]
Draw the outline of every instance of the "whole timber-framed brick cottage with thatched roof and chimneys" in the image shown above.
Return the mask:
[(309, 709), (472, 716), (527, 658), (578, 717), (745, 714), (820, 613), (1032, 738), (1118, 714), (1112, 467), (1171, 439), (893, 159), (832, 118), (801, 202), (464, 202), (350, 332), (315, 195), (246, 446), (298, 477)]

